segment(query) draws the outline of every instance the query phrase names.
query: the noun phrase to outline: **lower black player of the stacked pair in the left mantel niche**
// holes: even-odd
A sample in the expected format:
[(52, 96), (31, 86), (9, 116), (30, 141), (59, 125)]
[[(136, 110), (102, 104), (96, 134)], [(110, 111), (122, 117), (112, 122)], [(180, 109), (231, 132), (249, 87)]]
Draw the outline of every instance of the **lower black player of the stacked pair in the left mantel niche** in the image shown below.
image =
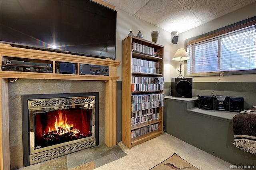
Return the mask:
[(50, 67), (2, 65), (1, 69), (3, 71), (26, 71), (26, 72), (38, 72), (38, 73), (52, 73), (52, 68)]

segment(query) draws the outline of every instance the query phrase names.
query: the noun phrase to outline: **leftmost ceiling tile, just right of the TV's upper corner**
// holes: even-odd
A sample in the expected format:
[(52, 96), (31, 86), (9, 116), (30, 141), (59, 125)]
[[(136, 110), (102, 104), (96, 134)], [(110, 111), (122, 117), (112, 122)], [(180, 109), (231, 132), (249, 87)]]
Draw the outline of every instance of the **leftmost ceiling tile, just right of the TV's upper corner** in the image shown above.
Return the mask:
[(136, 14), (149, 0), (106, 0), (116, 8), (129, 14)]

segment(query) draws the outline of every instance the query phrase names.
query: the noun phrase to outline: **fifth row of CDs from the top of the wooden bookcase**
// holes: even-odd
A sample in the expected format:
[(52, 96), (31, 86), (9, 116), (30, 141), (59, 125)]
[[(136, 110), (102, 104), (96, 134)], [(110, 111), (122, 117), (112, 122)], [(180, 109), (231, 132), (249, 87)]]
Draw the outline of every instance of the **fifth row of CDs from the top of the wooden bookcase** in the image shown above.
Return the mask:
[(145, 123), (148, 121), (153, 121), (159, 119), (159, 109), (146, 109), (141, 111), (132, 112), (132, 126), (138, 125), (140, 123)]

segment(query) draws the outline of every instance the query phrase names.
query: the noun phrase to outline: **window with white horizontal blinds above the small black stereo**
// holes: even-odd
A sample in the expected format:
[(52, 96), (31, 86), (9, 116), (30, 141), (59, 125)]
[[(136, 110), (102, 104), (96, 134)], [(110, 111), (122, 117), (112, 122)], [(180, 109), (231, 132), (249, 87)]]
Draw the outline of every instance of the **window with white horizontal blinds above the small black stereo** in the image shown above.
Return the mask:
[(256, 25), (252, 23), (188, 42), (187, 74), (256, 70)]

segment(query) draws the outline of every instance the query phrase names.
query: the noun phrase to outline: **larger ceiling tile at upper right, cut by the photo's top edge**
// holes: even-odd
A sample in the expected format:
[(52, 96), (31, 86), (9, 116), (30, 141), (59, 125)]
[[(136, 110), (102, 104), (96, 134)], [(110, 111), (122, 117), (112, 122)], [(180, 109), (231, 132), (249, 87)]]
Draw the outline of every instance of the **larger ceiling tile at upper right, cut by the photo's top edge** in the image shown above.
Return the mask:
[(243, 1), (245, 0), (198, 0), (187, 8), (200, 20), (204, 20)]

